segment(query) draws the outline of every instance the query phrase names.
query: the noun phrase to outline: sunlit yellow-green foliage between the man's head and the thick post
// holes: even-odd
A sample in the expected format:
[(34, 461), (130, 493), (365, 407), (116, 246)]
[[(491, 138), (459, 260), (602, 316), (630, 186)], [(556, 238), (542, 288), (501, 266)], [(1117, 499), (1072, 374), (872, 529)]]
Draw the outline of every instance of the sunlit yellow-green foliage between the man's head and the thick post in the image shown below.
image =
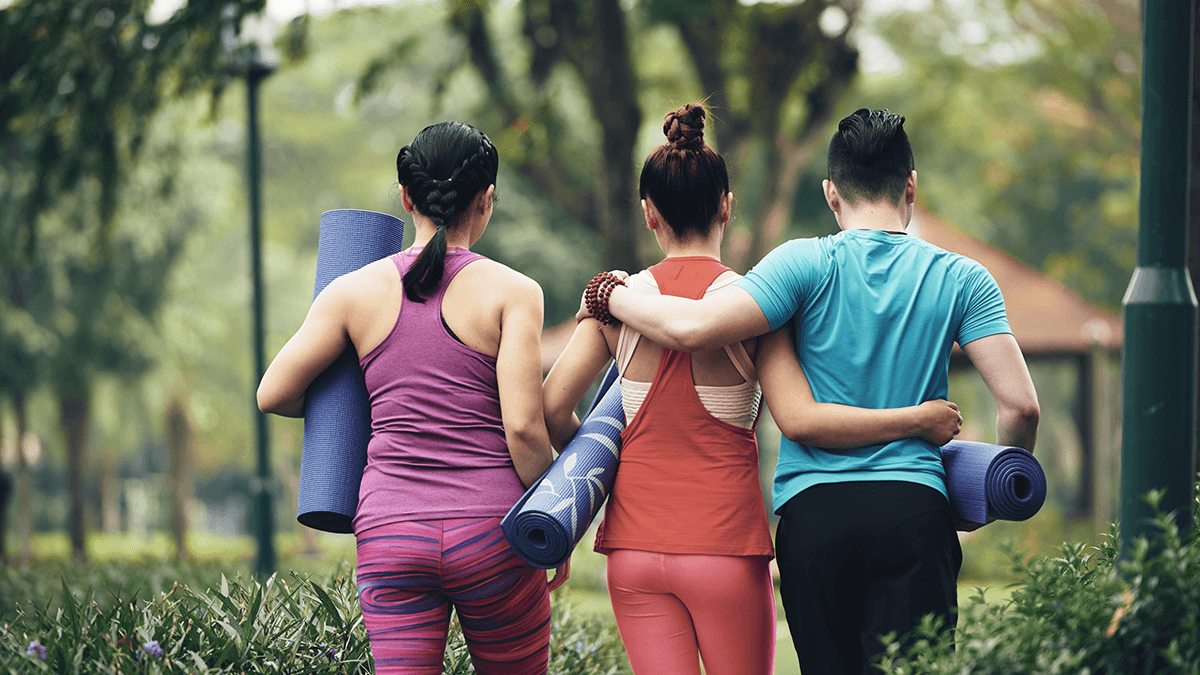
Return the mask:
[(1115, 309), (1136, 258), (1136, 4), (972, 5), (881, 20), (898, 72), (864, 102), (907, 118), (935, 213)]

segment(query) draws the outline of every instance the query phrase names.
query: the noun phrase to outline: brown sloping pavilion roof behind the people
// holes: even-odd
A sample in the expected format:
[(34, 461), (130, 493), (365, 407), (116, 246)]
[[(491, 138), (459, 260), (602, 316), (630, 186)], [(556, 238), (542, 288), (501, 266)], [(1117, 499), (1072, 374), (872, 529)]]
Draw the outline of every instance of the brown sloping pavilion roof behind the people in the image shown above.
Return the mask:
[[(1062, 283), (1044, 276), (958, 227), (918, 207), (908, 233), (972, 258), (996, 279), (1013, 335), (1026, 357), (1080, 354), (1093, 345), (1121, 348), (1121, 313), (1096, 306)], [(541, 334), (541, 368), (550, 368), (571, 339), (575, 319), (552, 325)], [(958, 347), (955, 347), (958, 351)]]

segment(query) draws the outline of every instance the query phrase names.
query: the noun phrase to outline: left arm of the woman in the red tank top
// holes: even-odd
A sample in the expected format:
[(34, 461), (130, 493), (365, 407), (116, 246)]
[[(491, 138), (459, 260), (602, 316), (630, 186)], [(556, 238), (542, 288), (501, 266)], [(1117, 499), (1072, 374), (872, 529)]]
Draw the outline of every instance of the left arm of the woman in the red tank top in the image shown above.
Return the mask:
[(542, 405), (546, 408), (546, 429), (556, 450), (575, 436), (580, 418), (575, 406), (580, 404), (596, 375), (608, 363), (608, 344), (605, 341), (600, 322), (584, 318), (575, 327), (566, 350), (550, 369), (541, 386)]

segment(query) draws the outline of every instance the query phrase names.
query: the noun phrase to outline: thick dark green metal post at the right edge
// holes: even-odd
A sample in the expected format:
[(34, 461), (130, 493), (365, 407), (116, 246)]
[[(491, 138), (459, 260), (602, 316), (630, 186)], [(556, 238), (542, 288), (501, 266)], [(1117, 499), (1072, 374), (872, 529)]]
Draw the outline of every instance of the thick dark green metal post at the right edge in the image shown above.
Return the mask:
[(1122, 359), (1121, 551), (1153, 534), (1142, 501), (1181, 528), (1195, 480), (1196, 298), (1187, 269), (1192, 12), (1186, 0), (1145, 0), (1138, 269), (1126, 291)]

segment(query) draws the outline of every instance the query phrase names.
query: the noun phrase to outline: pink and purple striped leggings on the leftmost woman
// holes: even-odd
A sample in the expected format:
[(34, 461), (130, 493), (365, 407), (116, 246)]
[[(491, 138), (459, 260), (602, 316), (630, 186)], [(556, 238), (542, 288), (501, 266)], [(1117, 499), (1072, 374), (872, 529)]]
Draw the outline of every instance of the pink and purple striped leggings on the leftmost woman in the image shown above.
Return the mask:
[(512, 552), (499, 518), (367, 530), (358, 536), (358, 585), (376, 673), (440, 674), (451, 607), (476, 673), (546, 673), (546, 573)]

